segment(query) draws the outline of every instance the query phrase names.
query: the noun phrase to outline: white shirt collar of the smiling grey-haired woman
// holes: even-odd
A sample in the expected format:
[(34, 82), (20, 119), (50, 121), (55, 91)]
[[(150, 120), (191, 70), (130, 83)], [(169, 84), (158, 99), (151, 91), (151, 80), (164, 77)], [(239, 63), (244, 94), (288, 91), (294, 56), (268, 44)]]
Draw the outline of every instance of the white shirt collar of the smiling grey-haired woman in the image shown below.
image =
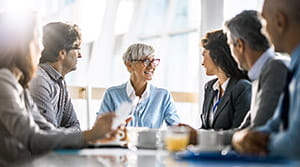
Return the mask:
[(138, 100), (138, 103), (145, 100), (146, 98), (148, 98), (150, 96), (150, 83), (147, 82), (147, 86), (146, 86), (146, 89), (144, 91), (144, 93), (142, 94), (141, 98), (139, 99), (138, 96), (135, 95), (135, 90), (130, 82), (127, 81), (127, 84), (126, 84), (126, 93), (127, 93), (127, 96), (129, 97), (130, 100), (132, 100), (133, 102), (136, 101), (136, 99), (139, 99)]

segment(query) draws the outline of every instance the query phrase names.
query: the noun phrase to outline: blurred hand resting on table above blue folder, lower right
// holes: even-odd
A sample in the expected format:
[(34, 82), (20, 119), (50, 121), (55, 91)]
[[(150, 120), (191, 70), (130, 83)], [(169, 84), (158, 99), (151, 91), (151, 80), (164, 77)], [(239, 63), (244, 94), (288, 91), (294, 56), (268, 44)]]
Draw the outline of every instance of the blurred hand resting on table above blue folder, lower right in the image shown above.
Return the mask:
[(269, 135), (249, 129), (234, 133), (233, 147), (240, 153), (266, 155), (268, 152)]

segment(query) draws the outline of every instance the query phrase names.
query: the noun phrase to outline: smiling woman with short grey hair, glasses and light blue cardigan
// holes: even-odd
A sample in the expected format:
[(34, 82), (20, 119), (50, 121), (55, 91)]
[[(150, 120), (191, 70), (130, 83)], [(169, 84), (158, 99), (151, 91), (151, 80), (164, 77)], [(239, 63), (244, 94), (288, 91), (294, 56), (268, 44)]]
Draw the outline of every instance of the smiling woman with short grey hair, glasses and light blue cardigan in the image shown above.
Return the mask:
[(132, 120), (129, 126), (160, 128), (177, 125), (179, 117), (170, 93), (149, 83), (160, 59), (154, 49), (146, 44), (133, 44), (123, 55), (124, 64), (130, 73), (129, 81), (107, 89), (97, 115), (114, 112), (124, 103), (133, 103)]

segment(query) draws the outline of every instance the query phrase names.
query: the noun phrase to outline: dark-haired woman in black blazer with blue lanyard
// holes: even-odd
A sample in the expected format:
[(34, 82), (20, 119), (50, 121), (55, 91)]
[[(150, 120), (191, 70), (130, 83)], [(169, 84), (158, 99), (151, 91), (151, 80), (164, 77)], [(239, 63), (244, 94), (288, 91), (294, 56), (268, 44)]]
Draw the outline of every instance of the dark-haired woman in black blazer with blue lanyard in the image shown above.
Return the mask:
[(217, 77), (205, 84), (201, 129), (237, 128), (250, 108), (251, 83), (238, 69), (222, 30), (206, 33), (201, 46), (206, 75)]

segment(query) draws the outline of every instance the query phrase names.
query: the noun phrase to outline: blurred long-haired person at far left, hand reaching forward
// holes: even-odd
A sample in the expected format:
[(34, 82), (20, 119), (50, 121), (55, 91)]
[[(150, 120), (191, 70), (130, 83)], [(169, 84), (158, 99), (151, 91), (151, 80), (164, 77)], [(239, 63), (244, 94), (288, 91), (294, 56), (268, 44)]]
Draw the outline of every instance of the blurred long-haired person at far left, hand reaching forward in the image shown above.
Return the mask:
[(44, 131), (35, 123), (31, 110), (37, 108), (27, 88), (40, 54), (37, 30), (34, 13), (0, 14), (0, 166), (53, 149), (81, 148), (114, 134), (111, 113), (83, 132)]

